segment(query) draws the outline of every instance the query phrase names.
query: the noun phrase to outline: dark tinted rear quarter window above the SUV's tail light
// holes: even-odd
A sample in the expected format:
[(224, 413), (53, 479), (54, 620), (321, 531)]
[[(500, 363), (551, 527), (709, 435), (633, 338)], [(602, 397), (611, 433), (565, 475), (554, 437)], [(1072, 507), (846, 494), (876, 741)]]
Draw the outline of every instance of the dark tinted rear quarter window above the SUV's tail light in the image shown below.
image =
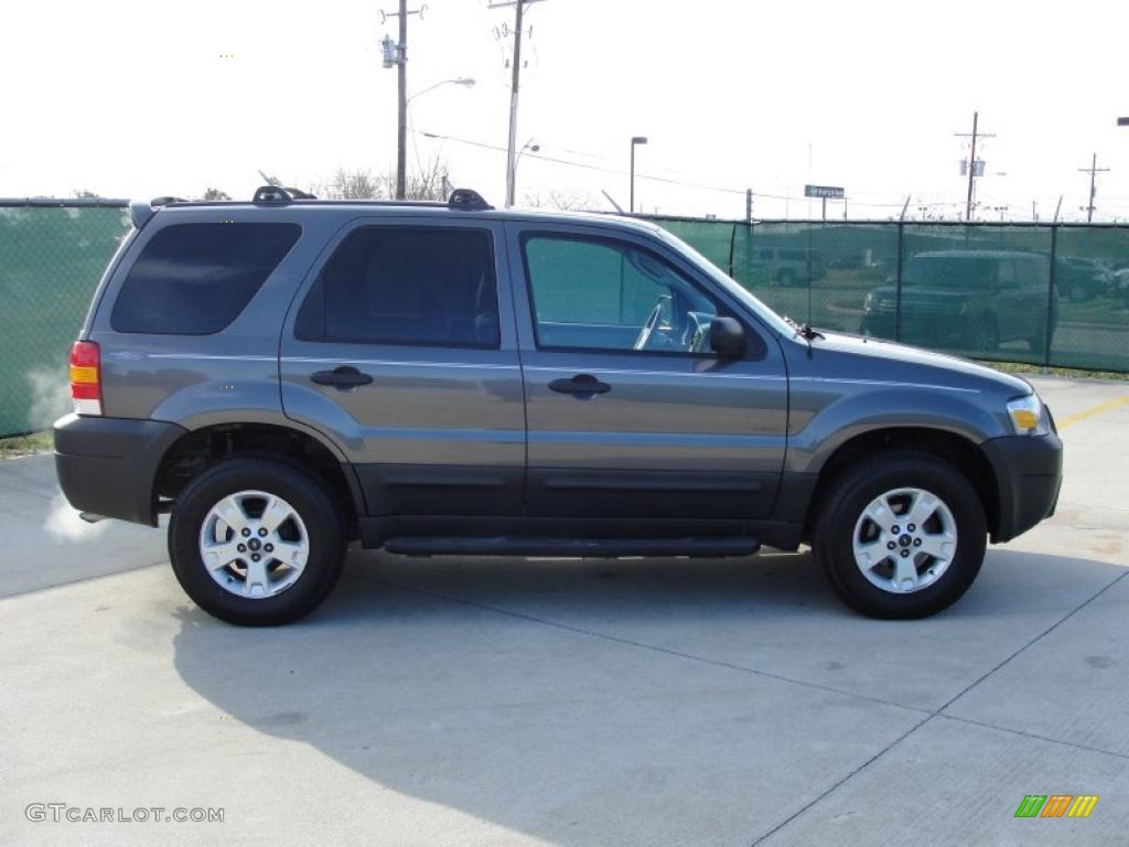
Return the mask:
[(298, 241), (297, 224), (177, 224), (141, 250), (117, 295), (116, 332), (209, 335), (227, 326)]

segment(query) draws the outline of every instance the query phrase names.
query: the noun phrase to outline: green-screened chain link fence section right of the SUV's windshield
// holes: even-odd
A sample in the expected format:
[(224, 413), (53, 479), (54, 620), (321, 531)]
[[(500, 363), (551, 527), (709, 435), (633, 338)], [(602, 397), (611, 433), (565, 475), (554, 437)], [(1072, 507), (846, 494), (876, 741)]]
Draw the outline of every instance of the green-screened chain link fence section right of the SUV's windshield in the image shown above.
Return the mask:
[(816, 328), (1129, 372), (1126, 226), (650, 220)]

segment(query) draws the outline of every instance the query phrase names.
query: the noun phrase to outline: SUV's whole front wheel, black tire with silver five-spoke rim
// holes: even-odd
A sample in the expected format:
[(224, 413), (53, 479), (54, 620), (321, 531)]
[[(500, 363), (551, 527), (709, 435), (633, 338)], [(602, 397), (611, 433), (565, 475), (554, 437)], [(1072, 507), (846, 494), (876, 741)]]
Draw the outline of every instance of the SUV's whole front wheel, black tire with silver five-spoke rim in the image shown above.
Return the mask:
[(852, 609), (924, 618), (960, 599), (980, 571), (987, 522), (971, 483), (933, 456), (875, 456), (821, 503), (815, 559)]

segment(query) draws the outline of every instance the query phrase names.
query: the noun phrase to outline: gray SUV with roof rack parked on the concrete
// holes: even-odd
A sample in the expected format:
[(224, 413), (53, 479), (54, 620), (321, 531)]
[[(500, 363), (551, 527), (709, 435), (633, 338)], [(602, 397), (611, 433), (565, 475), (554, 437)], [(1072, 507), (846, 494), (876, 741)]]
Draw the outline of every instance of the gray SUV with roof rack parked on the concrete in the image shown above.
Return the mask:
[(59, 480), (187, 594), (291, 621), (347, 545), (746, 556), (808, 543), (917, 618), (1053, 513), (1031, 386), (781, 318), (663, 229), (447, 203), (133, 203), (71, 352)]

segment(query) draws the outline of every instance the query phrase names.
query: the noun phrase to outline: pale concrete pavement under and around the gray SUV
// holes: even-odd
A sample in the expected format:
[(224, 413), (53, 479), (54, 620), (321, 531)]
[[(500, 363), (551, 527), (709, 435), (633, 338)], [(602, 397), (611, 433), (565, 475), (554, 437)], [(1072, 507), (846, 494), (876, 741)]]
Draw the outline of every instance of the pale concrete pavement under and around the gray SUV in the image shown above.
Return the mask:
[[(1129, 395), (1033, 382), (1059, 421)], [(1127, 424), (1069, 422), (1059, 514), (916, 622), (849, 612), (807, 555), (355, 552), (309, 619), (237, 629), (164, 533), (77, 524), (49, 457), (0, 463), (0, 844), (1117, 842)], [(1017, 820), (1026, 794), (1101, 800)], [(52, 802), (225, 821), (26, 820)]]

